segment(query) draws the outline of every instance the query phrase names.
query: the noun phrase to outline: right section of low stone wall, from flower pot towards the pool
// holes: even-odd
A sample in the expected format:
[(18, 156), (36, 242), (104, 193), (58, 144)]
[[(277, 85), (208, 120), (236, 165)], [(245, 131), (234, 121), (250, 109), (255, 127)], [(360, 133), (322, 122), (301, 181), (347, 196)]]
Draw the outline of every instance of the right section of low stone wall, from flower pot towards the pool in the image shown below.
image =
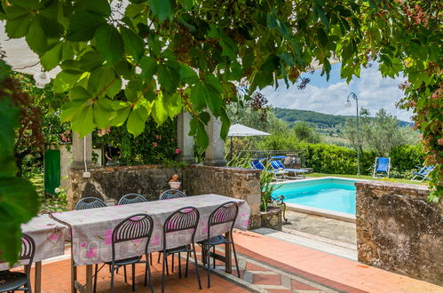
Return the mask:
[(260, 226), (259, 170), (188, 165), (184, 170), (184, 188), (189, 194), (221, 194), (248, 202), (249, 228)]

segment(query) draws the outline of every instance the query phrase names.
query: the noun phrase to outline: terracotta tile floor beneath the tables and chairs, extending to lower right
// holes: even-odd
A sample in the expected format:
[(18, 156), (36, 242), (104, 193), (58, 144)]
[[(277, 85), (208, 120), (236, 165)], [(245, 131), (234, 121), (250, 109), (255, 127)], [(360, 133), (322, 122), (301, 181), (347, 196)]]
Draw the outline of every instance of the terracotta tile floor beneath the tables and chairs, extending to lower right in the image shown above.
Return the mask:
[[(203, 289), (199, 290), (194, 263), (190, 263), (188, 278), (178, 278), (178, 270), (166, 277), (167, 292), (443, 292), (443, 288), (396, 273), (389, 273), (336, 257), (314, 249), (283, 242), (253, 232), (236, 232), (234, 241), (239, 258), (241, 280), (237, 274), (211, 273), (211, 288), (206, 288), (206, 272), (200, 267)], [(162, 266), (154, 254), (154, 289), (161, 291)], [(177, 259), (177, 258), (176, 258)], [(70, 260), (43, 265), (42, 292), (69, 292)], [(176, 260), (177, 264), (177, 260)], [(234, 262), (233, 262), (234, 264)], [(182, 261), (183, 269), (185, 261)], [(78, 271), (84, 281), (84, 267)], [(184, 272), (184, 271), (183, 271)], [(182, 273), (183, 273), (182, 272)], [(128, 267), (128, 277), (131, 267)], [(234, 277), (235, 276), (235, 277)], [(98, 292), (109, 291), (107, 267), (99, 272)], [(129, 279), (130, 281), (130, 279)], [(136, 268), (136, 292), (147, 292), (143, 286), (144, 266)], [(131, 292), (123, 281), (123, 270), (115, 277), (115, 292)]]

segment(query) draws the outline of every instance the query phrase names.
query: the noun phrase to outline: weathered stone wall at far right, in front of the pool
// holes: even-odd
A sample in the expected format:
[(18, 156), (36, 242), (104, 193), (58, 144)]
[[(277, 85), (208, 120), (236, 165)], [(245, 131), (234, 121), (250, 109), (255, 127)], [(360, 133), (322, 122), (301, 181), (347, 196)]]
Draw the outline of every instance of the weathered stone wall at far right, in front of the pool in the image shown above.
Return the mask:
[(443, 285), (443, 202), (426, 186), (358, 182), (359, 261)]

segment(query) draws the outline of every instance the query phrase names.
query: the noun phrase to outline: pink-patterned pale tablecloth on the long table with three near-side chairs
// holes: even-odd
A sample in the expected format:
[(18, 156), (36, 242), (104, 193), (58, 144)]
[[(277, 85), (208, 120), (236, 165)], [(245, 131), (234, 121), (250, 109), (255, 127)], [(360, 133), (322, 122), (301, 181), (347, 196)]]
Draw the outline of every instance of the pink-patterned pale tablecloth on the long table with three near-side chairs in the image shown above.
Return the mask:
[[(75, 265), (91, 265), (110, 261), (111, 237), (115, 226), (124, 218), (138, 213), (146, 213), (154, 219), (154, 230), (149, 243), (149, 252), (162, 249), (162, 224), (172, 212), (186, 206), (194, 206), (200, 212), (199, 226), (195, 241), (202, 241), (208, 236), (207, 222), (210, 213), (224, 202), (238, 202), (239, 213), (234, 227), (246, 230), (249, 226), (249, 205), (247, 202), (232, 197), (204, 194), (171, 199), (165, 201), (142, 202), (92, 210), (71, 210), (53, 213), (51, 217), (70, 226)], [(224, 234), (229, 225), (211, 227), (211, 236)], [(188, 244), (192, 231), (180, 231), (167, 236), (168, 248)], [(117, 259), (137, 257), (145, 253), (146, 240), (123, 242), (115, 251)]]

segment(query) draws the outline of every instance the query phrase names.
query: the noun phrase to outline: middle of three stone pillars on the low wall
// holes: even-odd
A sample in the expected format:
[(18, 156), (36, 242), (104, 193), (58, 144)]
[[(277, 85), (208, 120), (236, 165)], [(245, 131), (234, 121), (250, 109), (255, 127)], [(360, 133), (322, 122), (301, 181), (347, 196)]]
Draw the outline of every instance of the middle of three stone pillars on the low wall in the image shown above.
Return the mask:
[(177, 115), (177, 145), (181, 150), (178, 155), (180, 162), (195, 162), (194, 157), (194, 137), (189, 136), (191, 129), (191, 115), (188, 112), (182, 112)]

